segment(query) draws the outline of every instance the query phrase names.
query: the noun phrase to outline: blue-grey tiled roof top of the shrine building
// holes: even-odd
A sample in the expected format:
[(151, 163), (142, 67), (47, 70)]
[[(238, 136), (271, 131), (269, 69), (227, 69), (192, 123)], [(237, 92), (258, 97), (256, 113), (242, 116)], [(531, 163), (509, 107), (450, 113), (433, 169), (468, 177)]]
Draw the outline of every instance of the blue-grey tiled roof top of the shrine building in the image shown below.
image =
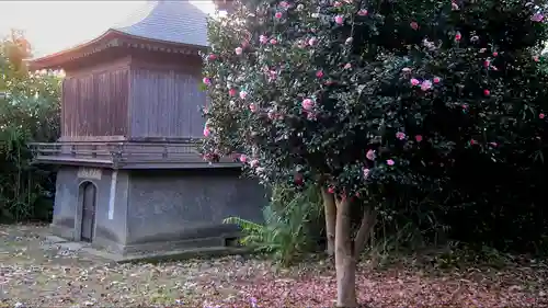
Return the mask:
[(208, 45), (207, 13), (189, 0), (147, 1), (112, 30), (156, 41)]

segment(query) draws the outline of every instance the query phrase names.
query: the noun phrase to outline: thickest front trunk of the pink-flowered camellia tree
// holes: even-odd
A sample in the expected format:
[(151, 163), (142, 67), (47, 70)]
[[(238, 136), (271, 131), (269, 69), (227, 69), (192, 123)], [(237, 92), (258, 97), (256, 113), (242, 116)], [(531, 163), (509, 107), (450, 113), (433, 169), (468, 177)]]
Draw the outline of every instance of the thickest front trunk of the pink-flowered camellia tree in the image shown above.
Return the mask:
[(336, 307), (357, 307), (356, 259), (352, 240), (352, 219), (349, 201), (336, 201), (335, 272)]

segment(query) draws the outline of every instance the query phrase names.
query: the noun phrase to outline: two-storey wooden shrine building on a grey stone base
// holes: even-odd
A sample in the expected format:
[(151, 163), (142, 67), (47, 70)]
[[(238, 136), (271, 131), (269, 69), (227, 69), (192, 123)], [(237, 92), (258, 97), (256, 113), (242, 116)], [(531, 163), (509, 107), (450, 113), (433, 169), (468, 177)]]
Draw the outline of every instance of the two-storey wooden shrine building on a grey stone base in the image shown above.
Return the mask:
[(197, 151), (206, 16), (185, 0), (148, 1), (129, 23), (31, 62), (66, 72), (61, 136), (35, 145), (36, 162), (59, 166), (56, 236), (134, 255), (222, 248), (238, 235), (224, 218), (261, 219), (263, 187)]

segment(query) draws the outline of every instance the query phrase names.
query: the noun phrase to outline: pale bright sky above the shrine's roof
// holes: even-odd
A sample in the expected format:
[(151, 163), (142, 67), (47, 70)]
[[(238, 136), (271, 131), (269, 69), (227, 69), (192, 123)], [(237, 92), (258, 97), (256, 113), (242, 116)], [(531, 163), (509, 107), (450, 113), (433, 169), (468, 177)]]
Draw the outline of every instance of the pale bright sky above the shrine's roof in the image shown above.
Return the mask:
[[(101, 35), (144, 2), (0, 0), (0, 36), (9, 34), (10, 28), (23, 30), (34, 57), (44, 56)], [(205, 4), (204, 0), (197, 3)]]

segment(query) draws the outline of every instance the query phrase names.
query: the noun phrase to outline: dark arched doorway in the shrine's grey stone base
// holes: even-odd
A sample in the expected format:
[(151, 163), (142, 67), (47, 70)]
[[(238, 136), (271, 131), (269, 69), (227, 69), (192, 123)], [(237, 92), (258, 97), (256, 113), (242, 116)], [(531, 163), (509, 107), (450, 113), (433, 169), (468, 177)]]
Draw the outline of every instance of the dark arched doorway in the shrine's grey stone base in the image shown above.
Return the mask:
[(92, 182), (83, 182), (80, 184), (82, 209), (82, 225), (80, 226), (80, 239), (91, 242), (93, 240), (93, 231), (95, 229), (95, 209), (96, 209), (96, 193), (98, 189)]

